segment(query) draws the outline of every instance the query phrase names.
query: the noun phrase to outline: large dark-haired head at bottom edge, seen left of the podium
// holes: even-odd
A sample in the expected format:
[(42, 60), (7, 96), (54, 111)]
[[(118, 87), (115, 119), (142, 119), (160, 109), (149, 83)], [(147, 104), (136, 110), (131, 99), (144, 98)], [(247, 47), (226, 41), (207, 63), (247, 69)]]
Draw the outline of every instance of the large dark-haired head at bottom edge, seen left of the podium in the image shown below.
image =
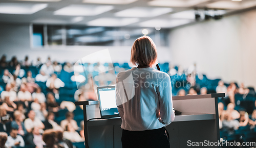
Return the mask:
[(42, 140), (45, 141), (47, 147), (53, 148), (57, 142), (55, 131), (52, 129), (45, 130), (44, 134), (42, 134)]

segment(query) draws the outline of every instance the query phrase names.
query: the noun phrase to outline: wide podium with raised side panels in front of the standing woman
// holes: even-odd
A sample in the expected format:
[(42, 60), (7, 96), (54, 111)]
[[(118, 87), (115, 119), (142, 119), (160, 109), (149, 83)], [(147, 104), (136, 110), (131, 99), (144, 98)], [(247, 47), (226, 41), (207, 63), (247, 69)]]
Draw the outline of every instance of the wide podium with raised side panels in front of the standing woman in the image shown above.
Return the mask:
[[(173, 96), (173, 107), (182, 115), (175, 116), (166, 126), (170, 147), (194, 147), (192, 142), (220, 141), (218, 97), (223, 96), (225, 93)], [(100, 118), (98, 102), (75, 102), (75, 105), (83, 106), (84, 136), (90, 148), (122, 147), (121, 118), (94, 119), (86, 124), (85, 121), (91, 118)]]

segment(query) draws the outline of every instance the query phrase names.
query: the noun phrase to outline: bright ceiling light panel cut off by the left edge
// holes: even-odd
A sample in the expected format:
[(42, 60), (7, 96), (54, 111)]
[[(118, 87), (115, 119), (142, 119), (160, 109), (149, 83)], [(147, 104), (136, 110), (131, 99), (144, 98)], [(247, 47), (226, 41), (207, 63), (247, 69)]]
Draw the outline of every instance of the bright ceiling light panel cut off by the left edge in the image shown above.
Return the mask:
[(5, 14), (33, 14), (45, 9), (48, 4), (0, 3), (0, 13)]

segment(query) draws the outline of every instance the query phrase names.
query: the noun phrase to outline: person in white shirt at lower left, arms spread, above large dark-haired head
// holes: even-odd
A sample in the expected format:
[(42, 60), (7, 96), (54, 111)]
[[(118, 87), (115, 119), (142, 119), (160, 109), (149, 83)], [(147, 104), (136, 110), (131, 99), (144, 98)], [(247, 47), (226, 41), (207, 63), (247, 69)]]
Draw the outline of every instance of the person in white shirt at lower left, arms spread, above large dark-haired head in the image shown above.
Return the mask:
[(33, 110), (30, 110), (28, 113), (28, 118), (25, 119), (24, 121), (24, 125), (26, 130), (30, 133), (32, 128), (37, 127), (40, 129), (40, 132), (42, 131), (42, 129), (45, 128), (45, 125), (42, 124), (42, 121), (40, 119), (38, 119), (37, 117), (35, 117), (35, 112)]

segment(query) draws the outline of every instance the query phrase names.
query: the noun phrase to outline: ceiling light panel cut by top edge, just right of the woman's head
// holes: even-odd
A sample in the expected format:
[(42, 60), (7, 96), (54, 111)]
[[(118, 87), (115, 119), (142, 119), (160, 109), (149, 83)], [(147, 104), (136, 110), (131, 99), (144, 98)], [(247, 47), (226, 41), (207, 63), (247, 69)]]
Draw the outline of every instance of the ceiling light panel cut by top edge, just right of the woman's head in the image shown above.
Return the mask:
[(191, 7), (199, 5), (209, 0), (154, 0), (147, 4), (150, 6), (162, 6), (162, 7)]

